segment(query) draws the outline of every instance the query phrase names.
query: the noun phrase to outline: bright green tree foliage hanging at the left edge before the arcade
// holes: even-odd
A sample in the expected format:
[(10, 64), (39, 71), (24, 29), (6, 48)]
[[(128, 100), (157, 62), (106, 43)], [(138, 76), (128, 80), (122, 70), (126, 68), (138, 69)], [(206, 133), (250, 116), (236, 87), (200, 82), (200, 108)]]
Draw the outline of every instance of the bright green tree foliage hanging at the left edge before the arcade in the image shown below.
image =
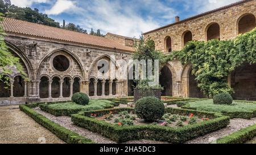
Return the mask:
[[(1, 16), (2, 14), (0, 14)], [(3, 18), (0, 17), (0, 22), (3, 21)], [(23, 72), (23, 67), (19, 63), (19, 58), (14, 57), (8, 50), (4, 36), (6, 36), (3, 31), (2, 25), (0, 25), (0, 80), (7, 82), (7, 74), (11, 74), (11, 68), (16, 68), (23, 76), (26, 74)], [(4, 79), (3, 79), (4, 78)]]

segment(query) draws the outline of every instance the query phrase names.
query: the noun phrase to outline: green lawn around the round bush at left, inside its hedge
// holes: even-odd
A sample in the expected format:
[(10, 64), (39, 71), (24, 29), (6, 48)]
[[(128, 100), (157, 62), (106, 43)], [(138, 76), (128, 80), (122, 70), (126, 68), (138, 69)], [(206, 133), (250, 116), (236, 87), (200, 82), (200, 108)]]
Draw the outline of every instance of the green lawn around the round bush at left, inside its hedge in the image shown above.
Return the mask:
[(49, 108), (53, 110), (76, 110), (80, 109), (82, 111), (90, 111), (90, 110), (101, 110), (105, 108), (113, 108), (114, 106), (110, 100), (103, 100), (103, 99), (91, 99), (89, 104), (86, 106), (82, 106), (73, 102), (67, 103), (56, 103), (56, 104), (49, 104)]

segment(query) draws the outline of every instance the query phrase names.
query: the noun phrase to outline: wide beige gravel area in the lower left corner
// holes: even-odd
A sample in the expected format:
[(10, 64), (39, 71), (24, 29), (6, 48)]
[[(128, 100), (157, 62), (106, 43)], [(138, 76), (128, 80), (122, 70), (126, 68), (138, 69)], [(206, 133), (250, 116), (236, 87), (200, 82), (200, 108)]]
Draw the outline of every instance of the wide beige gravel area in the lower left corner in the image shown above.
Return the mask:
[(19, 110), (19, 106), (0, 106), (1, 144), (61, 144), (53, 133)]

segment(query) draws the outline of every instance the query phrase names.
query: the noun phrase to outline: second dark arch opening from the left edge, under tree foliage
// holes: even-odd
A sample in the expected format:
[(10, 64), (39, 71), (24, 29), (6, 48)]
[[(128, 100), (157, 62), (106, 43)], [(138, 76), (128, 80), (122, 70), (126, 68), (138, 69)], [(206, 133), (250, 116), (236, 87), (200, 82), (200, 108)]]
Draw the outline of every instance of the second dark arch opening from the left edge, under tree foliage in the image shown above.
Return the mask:
[(24, 79), (21, 76), (16, 76), (13, 83), (13, 96), (24, 97), (25, 87)]

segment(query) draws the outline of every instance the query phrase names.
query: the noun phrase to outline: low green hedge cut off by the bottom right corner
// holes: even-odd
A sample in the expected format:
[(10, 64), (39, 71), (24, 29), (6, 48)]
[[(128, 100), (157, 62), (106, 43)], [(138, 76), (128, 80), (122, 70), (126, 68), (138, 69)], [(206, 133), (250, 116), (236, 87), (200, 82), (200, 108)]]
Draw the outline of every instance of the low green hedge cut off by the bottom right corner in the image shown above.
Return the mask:
[(256, 124), (217, 140), (218, 144), (243, 144), (256, 136)]

